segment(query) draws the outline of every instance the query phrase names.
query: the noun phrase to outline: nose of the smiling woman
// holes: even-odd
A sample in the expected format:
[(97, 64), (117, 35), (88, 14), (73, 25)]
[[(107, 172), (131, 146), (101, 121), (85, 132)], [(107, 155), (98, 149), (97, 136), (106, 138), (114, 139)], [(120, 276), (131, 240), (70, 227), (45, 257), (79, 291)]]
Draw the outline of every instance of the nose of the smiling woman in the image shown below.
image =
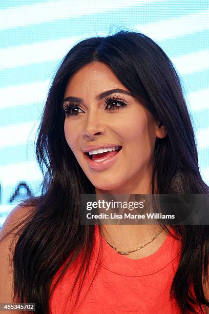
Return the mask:
[(82, 136), (93, 141), (95, 136), (105, 134), (106, 128), (96, 110), (89, 112)]

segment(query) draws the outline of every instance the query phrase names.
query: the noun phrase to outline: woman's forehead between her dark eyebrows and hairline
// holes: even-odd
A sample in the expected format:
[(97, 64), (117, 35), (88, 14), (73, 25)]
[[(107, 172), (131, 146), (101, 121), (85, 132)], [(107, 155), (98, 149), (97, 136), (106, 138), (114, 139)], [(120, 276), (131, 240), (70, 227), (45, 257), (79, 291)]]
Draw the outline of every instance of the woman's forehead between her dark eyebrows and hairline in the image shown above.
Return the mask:
[(128, 91), (107, 65), (101, 62), (93, 62), (80, 68), (70, 78), (65, 96), (71, 94), (76, 96), (78, 93), (99, 93), (114, 88), (122, 88)]

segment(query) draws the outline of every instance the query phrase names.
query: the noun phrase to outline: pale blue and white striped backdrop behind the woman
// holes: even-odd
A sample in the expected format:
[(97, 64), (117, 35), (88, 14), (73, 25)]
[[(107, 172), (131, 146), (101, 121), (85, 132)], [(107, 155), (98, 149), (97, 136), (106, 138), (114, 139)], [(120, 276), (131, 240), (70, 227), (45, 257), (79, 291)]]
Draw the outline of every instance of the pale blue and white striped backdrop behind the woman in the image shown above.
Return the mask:
[[(50, 80), (79, 40), (126, 28), (150, 36), (182, 78), (209, 184), (208, 0), (0, 1), (0, 225), (41, 174), (33, 142)], [(13, 195), (14, 197), (14, 195)]]

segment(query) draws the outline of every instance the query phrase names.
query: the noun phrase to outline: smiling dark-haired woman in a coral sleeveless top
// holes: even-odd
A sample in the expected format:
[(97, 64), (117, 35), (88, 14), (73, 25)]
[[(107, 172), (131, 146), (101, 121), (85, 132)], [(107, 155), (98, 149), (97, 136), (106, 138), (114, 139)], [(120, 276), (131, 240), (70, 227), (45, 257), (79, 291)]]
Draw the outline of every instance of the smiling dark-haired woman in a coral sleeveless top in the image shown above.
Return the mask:
[(207, 225), (80, 225), (80, 194), (209, 191), (180, 80), (157, 44), (120, 31), (75, 45), (52, 82), (36, 154), (41, 196), (2, 230), (6, 250), (21, 217), (13, 301), (36, 313), (206, 312)]

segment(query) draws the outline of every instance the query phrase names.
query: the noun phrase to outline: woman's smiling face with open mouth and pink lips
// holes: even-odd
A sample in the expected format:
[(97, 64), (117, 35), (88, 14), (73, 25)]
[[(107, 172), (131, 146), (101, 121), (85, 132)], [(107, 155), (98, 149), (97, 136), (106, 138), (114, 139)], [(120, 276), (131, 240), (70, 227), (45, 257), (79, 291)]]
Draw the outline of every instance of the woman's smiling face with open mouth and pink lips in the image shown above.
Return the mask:
[[(71, 77), (64, 99), (66, 141), (96, 191), (147, 193), (155, 139), (165, 136), (152, 114), (100, 62), (88, 64)], [(92, 160), (83, 152), (102, 145), (122, 148), (96, 151)]]

